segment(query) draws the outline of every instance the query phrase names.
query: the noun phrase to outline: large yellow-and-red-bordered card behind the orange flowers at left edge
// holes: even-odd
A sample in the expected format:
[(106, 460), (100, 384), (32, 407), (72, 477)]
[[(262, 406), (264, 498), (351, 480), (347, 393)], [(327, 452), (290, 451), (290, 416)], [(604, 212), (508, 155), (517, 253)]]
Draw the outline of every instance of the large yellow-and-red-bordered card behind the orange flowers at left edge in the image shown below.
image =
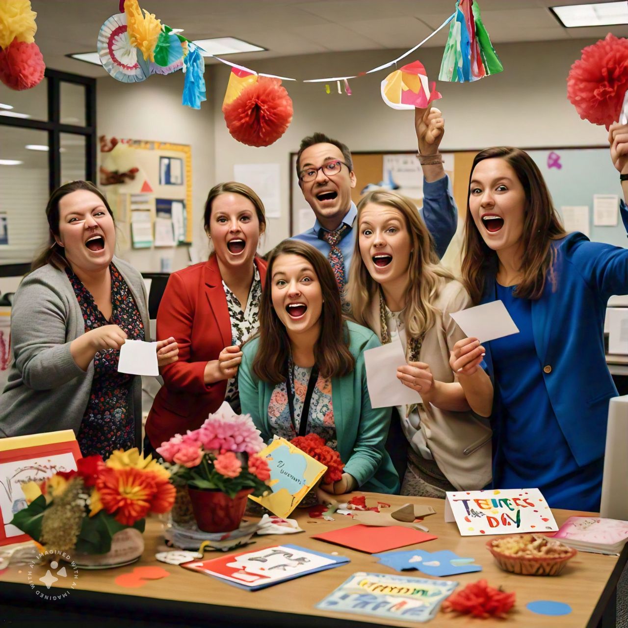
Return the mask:
[(25, 482), (43, 482), (59, 471), (75, 471), (81, 458), (74, 432), (0, 438), (0, 545), (28, 541), (10, 521), (26, 507)]

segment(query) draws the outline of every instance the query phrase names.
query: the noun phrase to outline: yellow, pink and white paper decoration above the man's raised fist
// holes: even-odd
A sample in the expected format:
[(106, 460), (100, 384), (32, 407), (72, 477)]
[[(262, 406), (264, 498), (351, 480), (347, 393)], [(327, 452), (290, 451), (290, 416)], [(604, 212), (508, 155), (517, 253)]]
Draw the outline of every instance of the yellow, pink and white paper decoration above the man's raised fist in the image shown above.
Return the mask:
[(414, 61), (391, 72), (381, 83), (382, 99), (393, 109), (421, 109), (442, 98), (436, 83), (428, 81), (423, 63)]

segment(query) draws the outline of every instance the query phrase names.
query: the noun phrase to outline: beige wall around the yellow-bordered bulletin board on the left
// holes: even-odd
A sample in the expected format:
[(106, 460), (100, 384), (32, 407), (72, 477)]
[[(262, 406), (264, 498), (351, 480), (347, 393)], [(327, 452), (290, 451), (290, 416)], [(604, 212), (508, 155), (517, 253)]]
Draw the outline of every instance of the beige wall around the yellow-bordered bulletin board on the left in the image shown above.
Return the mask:
[[(212, 84), (205, 79), (208, 90)], [(165, 141), (192, 146), (193, 241), (207, 257), (202, 216), (207, 191), (214, 185), (214, 120), (211, 98), (200, 110), (181, 104), (183, 74), (154, 76), (125, 84), (107, 76), (97, 80), (97, 133), (107, 137)], [(103, 188), (106, 191), (106, 187)], [(162, 257), (170, 257), (173, 271), (187, 266), (188, 247), (132, 249), (119, 237), (118, 254), (139, 271), (159, 271)]]

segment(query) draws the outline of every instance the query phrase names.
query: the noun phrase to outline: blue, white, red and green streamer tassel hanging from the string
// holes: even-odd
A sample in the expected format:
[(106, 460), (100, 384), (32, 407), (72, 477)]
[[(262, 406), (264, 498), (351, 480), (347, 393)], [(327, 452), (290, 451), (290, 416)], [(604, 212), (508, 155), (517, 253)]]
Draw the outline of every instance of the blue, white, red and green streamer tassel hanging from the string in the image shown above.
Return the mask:
[(469, 82), (502, 72), (475, 0), (457, 0), (438, 80)]

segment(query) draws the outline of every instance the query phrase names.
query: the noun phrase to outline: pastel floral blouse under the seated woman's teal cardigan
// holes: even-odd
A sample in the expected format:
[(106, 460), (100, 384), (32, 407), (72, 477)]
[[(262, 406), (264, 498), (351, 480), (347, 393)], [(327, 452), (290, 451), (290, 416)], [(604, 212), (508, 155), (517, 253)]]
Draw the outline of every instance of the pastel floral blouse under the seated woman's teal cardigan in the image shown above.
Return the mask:
[[(291, 378), (291, 395), (295, 404), (295, 421), (297, 426), (301, 421), (303, 402), (310, 381), (310, 367), (293, 366), (294, 376)], [(268, 404), (268, 421), (273, 434), (291, 440), (298, 436), (298, 427), (292, 425), (290, 419), (290, 407), (288, 406), (288, 395), (286, 394), (286, 382), (281, 382), (274, 387), (271, 400)], [(311, 432), (325, 439), (325, 444), (337, 450), (336, 425), (333, 420), (332, 405), (332, 380), (318, 376), (314, 392), (310, 401), (310, 414), (305, 430), (306, 434)]]

